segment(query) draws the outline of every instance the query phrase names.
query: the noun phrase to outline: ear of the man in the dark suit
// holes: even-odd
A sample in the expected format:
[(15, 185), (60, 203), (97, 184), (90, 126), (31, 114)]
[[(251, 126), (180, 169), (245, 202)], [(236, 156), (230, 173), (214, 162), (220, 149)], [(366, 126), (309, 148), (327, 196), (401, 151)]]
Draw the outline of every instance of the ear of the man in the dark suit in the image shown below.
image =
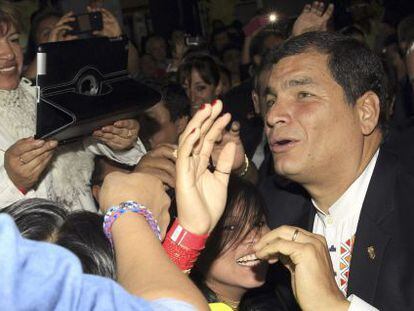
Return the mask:
[(370, 135), (378, 126), (381, 110), (378, 95), (372, 91), (365, 92), (357, 99), (356, 109), (362, 133)]

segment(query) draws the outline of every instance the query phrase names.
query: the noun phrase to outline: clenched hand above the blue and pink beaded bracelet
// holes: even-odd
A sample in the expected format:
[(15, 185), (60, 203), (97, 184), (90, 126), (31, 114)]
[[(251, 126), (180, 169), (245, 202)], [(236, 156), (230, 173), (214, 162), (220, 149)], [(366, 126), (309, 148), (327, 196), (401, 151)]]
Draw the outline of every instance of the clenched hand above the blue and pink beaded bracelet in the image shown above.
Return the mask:
[(109, 173), (99, 193), (99, 208), (106, 213), (111, 206), (124, 201), (135, 201), (149, 208), (165, 235), (170, 216), (170, 198), (158, 178), (142, 173)]

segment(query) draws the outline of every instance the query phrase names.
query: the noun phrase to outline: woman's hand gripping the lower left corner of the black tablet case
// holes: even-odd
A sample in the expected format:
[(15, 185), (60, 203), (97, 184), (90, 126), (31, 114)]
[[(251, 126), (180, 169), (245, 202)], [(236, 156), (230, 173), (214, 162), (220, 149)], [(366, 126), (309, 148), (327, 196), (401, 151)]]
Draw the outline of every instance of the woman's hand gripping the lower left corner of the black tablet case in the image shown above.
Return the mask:
[(53, 157), (57, 141), (18, 140), (4, 154), (4, 168), (17, 188), (30, 190)]

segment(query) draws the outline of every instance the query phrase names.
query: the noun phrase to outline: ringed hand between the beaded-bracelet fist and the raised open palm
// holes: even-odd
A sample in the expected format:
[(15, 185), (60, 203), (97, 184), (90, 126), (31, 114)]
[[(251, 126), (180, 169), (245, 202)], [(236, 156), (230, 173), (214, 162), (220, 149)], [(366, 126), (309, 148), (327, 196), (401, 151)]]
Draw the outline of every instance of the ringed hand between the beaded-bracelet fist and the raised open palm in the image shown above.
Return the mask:
[(147, 152), (135, 166), (134, 172), (158, 177), (165, 185), (175, 188), (177, 146), (163, 144)]

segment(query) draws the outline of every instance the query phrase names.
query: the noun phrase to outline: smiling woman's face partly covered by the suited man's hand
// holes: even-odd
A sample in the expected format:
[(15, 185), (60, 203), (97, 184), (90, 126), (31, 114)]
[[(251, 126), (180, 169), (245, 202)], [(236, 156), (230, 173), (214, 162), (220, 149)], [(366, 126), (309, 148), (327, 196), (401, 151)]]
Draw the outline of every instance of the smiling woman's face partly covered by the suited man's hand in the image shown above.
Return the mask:
[[(226, 226), (229, 234), (238, 225), (237, 218), (233, 222)], [(267, 232), (269, 228), (263, 221), (244, 240), (221, 254), (210, 267), (206, 276), (207, 285), (213, 291), (233, 299), (240, 299), (248, 289), (263, 285), (268, 264), (255, 259), (253, 245)]]

